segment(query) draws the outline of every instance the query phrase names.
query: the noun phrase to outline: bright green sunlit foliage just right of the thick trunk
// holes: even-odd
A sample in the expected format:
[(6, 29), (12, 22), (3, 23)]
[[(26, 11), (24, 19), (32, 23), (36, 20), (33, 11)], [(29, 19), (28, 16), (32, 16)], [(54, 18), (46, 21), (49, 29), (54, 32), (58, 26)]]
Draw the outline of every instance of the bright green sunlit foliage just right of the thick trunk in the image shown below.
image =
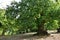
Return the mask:
[(47, 30), (56, 30), (58, 28), (58, 20), (53, 20), (45, 24)]

